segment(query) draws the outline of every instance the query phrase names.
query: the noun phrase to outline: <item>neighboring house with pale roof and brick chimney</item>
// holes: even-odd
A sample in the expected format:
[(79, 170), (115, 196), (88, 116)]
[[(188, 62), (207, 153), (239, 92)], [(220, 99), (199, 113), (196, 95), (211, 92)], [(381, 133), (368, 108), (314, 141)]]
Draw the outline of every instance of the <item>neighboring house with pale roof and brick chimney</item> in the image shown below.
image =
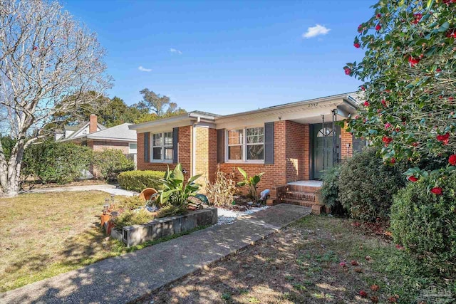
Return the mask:
[(117, 149), (126, 155), (136, 154), (136, 132), (129, 129), (130, 125), (133, 124), (106, 128), (97, 122), (96, 115), (90, 115), (90, 120), (82, 125), (65, 126), (64, 132), (56, 133), (56, 141), (75, 142), (94, 151)]

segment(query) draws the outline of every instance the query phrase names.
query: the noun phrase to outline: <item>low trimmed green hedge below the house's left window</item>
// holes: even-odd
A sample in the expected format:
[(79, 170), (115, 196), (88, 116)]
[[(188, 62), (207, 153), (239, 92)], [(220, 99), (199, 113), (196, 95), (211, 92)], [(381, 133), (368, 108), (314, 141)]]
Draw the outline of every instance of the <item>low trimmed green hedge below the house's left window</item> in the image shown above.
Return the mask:
[(145, 188), (160, 189), (160, 179), (165, 177), (163, 171), (126, 171), (118, 175), (120, 187), (127, 190), (141, 192)]

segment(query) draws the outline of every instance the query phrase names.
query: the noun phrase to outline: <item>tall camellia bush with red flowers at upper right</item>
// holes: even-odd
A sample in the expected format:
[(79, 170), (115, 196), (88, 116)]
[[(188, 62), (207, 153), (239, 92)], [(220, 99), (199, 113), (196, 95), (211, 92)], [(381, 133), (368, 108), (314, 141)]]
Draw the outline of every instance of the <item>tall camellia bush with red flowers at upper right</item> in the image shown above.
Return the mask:
[(363, 81), (369, 104), (348, 119), (348, 131), (381, 147), (386, 164), (417, 166), (406, 172), (410, 182), (423, 177), (428, 191), (445, 192), (455, 164), (428, 171), (418, 164), (456, 151), (456, 4), (389, 0), (373, 9), (355, 38), (365, 57), (344, 67)]

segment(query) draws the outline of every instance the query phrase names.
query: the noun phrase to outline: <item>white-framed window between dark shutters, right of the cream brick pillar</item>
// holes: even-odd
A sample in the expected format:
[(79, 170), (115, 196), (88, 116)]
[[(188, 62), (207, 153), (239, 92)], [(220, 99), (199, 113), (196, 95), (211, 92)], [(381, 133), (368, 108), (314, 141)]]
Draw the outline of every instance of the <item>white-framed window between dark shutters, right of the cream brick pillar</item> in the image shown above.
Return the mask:
[(264, 162), (264, 127), (228, 130), (227, 162)]

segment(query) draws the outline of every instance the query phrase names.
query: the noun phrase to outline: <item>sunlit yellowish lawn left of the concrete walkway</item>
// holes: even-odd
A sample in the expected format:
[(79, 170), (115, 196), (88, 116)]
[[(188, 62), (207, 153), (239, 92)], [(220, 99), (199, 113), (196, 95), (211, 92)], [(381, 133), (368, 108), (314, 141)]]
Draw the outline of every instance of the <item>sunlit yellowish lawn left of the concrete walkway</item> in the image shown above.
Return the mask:
[(0, 292), (125, 251), (95, 226), (107, 197), (104, 192), (55, 192), (1, 199)]

